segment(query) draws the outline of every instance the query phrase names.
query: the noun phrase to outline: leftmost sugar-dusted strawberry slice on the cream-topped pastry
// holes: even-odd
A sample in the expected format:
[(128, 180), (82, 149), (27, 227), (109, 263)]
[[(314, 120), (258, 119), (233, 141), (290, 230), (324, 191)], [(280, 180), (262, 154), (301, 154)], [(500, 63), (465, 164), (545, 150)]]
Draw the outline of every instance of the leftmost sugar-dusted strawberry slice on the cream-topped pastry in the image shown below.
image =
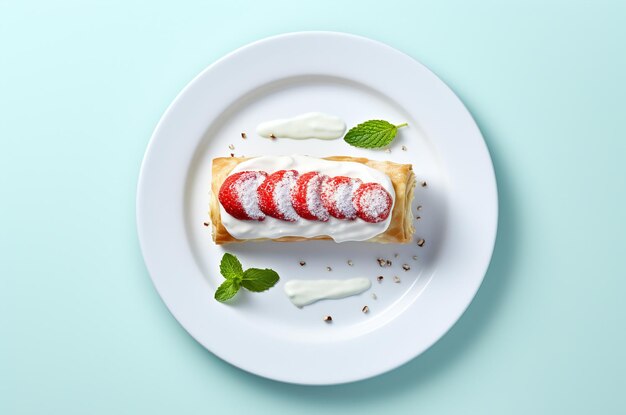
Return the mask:
[(265, 219), (256, 190), (266, 177), (264, 171), (241, 171), (228, 176), (217, 196), (224, 210), (239, 220)]

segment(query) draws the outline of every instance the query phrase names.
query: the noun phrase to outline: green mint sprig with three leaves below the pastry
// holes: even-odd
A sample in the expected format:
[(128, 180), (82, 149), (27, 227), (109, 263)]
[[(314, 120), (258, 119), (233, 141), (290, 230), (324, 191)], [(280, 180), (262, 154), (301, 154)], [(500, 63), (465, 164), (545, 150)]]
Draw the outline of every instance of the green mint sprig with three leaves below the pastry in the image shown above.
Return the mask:
[(241, 287), (254, 292), (269, 290), (279, 280), (276, 271), (271, 269), (248, 268), (244, 271), (237, 257), (229, 253), (222, 257), (220, 273), (226, 280), (215, 291), (217, 301), (233, 298)]

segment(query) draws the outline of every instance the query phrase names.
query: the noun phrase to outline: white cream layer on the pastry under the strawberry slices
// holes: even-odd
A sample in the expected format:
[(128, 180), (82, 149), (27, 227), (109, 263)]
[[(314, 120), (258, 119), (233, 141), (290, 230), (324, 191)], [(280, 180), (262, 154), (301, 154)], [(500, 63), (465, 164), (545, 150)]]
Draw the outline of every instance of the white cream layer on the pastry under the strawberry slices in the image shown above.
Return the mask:
[[(396, 194), (391, 179), (376, 169), (361, 163), (346, 161), (330, 161), (309, 156), (261, 156), (239, 163), (231, 174), (260, 170), (272, 174), (278, 170), (297, 170), (300, 174), (317, 171), (328, 176), (348, 176), (359, 178), (364, 183), (375, 182), (389, 192), (395, 203)], [(393, 206), (392, 206), (393, 209)], [(282, 236), (329, 236), (335, 242), (365, 241), (387, 230), (391, 223), (391, 214), (378, 223), (369, 223), (360, 218), (342, 220), (331, 217), (327, 222), (312, 221), (298, 218), (295, 222), (287, 222), (267, 216), (263, 221), (239, 220), (226, 213), (220, 204), (222, 223), (232, 236), (237, 239), (280, 238)]]

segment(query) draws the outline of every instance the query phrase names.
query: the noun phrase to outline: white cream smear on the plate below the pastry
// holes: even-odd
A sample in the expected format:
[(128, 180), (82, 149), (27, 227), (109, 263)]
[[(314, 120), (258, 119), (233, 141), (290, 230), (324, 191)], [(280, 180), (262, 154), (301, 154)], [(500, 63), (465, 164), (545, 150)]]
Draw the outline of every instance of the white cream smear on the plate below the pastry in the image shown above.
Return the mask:
[(297, 307), (303, 307), (319, 300), (345, 298), (361, 294), (372, 283), (367, 278), (349, 280), (291, 280), (285, 283), (285, 294)]

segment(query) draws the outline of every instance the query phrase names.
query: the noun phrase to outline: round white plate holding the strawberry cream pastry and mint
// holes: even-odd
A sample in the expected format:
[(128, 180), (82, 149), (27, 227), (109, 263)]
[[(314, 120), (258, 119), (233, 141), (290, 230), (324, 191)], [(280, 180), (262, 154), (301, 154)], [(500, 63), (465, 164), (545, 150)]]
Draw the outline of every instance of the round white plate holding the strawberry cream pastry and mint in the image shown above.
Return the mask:
[[(262, 121), (309, 111), (338, 115), (349, 127), (369, 119), (409, 126), (399, 130), (390, 152), (357, 149), (341, 139), (272, 141), (255, 133)], [(421, 217), (415, 221), (415, 240), (407, 245), (316, 241), (218, 247), (203, 222), (209, 220), (211, 160), (230, 153), (350, 155), (412, 163), (418, 181), (427, 183), (418, 184), (415, 192), (413, 209)], [(480, 286), (496, 224), (491, 159), (461, 101), (409, 56), (342, 33), (272, 37), (204, 70), (156, 127), (137, 191), (143, 256), (174, 317), (225, 361), (300, 384), (375, 376), (436, 342)], [(420, 238), (423, 247), (415, 242)], [(213, 294), (223, 280), (219, 261), (224, 252), (237, 255), (244, 268), (273, 268), (279, 283), (264, 293), (242, 291), (229, 304), (217, 302)], [(379, 267), (379, 257), (392, 266)], [(378, 275), (384, 277), (380, 283)], [(294, 278), (355, 276), (370, 278), (372, 288), (343, 300), (299, 309), (283, 292), (283, 284)], [(400, 281), (394, 282), (394, 276)], [(365, 305), (369, 313), (361, 311)], [(325, 315), (333, 322), (322, 321)]]

